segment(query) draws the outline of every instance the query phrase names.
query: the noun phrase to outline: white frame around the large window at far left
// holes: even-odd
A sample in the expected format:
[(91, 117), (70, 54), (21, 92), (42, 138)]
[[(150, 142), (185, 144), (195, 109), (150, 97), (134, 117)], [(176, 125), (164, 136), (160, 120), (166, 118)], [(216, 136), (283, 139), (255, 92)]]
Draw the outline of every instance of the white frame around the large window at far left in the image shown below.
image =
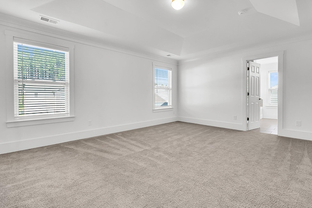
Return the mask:
[[(34, 34), (34, 33), (19, 33), (6, 30), (6, 104), (7, 104), (7, 121), (6, 125), (10, 127), (20, 127), (29, 125), (39, 125), (47, 123), (58, 123), (73, 121), (74, 115), (74, 44), (69, 41), (50, 36)], [(24, 43), (45, 48), (64, 49), (69, 52), (69, 113), (64, 115), (56, 114), (55, 116), (39, 116), (39, 117), (25, 117), (24, 119), (17, 119), (14, 111), (14, 49), (13, 43), (16, 40), (25, 41)]]

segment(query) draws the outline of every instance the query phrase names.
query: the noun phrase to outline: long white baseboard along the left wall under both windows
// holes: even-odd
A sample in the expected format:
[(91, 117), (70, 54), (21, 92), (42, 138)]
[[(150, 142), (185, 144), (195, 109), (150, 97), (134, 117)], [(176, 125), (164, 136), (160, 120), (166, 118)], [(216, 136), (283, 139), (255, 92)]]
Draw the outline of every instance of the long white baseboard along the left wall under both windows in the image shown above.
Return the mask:
[(148, 126), (158, 125), (158, 124), (175, 122), (177, 120), (178, 120), (178, 117), (170, 117), (170, 118), (163, 118), (163, 119), (158, 119), (158, 120), (125, 124), (125, 125), (120, 125), (120, 126), (106, 127), (106, 128), (83, 131), (83, 132), (74, 132), (74, 133), (67, 133), (67, 134), (60, 134), (60, 135), (22, 140), (22, 141), (2, 143), (0, 144), (0, 154), (14, 152), (14, 151), (28, 150), (28, 149), (38, 148), (38, 147), (44, 147), (48, 145), (75, 141), (75, 140), (90, 138), (94, 136), (106, 135), (110, 133), (139, 129), (139, 128), (144, 128)]

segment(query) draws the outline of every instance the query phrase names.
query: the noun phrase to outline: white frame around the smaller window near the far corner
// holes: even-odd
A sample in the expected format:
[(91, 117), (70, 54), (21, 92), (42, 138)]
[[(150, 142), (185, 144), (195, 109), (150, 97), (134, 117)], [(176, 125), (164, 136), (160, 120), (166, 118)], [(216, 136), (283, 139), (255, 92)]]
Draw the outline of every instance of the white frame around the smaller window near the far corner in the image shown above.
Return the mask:
[[(159, 106), (156, 107), (155, 106), (155, 69), (164, 69), (164, 70), (168, 70), (171, 72), (171, 80), (169, 82), (169, 87), (168, 87), (168, 91), (170, 92), (168, 95), (168, 106)], [(172, 85), (173, 85), (173, 70), (170, 67), (166, 67), (166, 66), (162, 66), (159, 64), (155, 64), (153, 63), (153, 112), (163, 112), (163, 111), (172, 111), (173, 110), (173, 90), (172, 90)]]

